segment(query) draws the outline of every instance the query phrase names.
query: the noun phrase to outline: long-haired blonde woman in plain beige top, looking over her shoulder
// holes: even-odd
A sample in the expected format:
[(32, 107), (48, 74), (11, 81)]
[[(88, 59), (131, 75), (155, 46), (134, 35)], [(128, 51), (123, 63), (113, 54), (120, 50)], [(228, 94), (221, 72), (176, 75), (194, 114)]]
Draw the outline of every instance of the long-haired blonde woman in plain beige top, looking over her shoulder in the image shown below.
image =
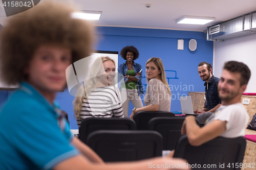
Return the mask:
[(146, 79), (145, 107), (134, 108), (129, 118), (133, 118), (139, 111), (170, 111), (171, 93), (160, 58), (153, 57), (147, 60)]

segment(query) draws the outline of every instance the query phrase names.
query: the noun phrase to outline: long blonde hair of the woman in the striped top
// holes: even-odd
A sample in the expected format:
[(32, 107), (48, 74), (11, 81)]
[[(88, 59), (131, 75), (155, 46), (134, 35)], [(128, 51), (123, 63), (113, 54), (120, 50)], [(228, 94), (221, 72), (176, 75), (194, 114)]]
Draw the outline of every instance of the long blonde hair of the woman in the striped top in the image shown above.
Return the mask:
[(83, 99), (88, 99), (91, 92), (97, 87), (99, 83), (98, 76), (100, 75), (100, 71), (103, 67), (103, 62), (105, 61), (112, 61), (115, 65), (115, 61), (110, 57), (98, 57), (90, 67), (88, 78), (86, 81), (84, 81), (84, 85), (81, 86), (77, 91), (75, 100), (73, 101), (74, 116), (77, 119), (80, 118), (80, 111)]

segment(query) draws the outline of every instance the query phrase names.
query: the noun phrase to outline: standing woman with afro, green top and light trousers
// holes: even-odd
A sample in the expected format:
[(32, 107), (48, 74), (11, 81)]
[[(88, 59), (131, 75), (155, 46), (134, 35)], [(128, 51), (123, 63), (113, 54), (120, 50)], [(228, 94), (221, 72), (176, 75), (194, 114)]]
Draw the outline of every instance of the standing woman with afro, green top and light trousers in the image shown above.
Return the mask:
[[(124, 82), (121, 83), (121, 96), (123, 102), (123, 115), (128, 117), (129, 101), (135, 108), (143, 107), (140, 95), (144, 94), (141, 83), (142, 67), (134, 60), (139, 58), (139, 52), (134, 46), (125, 46), (120, 52), (120, 56), (126, 60), (118, 66), (118, 73), (121, 74)], [(120, 78), (119, 78), (120, 80)]]

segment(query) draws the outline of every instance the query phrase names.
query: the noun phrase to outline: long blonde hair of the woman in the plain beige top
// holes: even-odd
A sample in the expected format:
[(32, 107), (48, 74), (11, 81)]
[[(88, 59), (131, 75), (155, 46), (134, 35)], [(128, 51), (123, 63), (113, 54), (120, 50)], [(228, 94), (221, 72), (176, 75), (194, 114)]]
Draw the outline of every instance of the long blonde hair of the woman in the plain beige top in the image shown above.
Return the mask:
[[(160, 73), (160, 80), (163, 82), (163, 84), (165, 84), (165, 86), (166, 86), (166, 88), (168, 90), (168, 93), (170, 95), (172, 95), (172, 93), (170, 92), (169, 84), (168, 84), (168, 82), (166, 80), (166, 76), (165, 76), (165, 71), (164, 71), (162, 60), (160, 58), (158, 58), (158, 57), (152, 57), (152, 58), (147, 60), (146, 65), (149, 62), (154, 62), (156, 64), (156, 66), (158, 67), (158, 69), (161, 71), (161, 73)], [(146, 81), (148, 83), (150, 81), (150, 79), (146, 78)]]

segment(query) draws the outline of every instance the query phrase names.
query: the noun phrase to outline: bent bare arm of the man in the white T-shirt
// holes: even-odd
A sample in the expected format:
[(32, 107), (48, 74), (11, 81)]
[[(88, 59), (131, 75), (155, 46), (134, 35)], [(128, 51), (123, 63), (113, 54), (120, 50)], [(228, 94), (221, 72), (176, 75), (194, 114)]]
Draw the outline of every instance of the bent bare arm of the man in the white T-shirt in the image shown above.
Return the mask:
[(221, 120), (214, 120), (200, 128), (196, 123), (195, 116), (187, 116), (182, 126), (182, 134), (187, 134), (191, 145), (199, 146), (222, 134), (226, 130), (226, 123)]

